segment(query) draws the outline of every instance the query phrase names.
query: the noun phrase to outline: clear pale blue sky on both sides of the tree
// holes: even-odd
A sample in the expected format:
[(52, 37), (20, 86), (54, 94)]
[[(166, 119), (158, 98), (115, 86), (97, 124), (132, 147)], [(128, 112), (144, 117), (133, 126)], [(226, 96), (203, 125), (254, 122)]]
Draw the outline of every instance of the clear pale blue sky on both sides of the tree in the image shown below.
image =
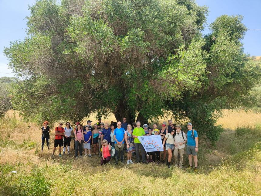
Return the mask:
[[(9, 41), (23, 40), (26, 36), (25, 16), (30, 14), (28, 4), (35, 0), (0, 0), (0, 72), (10, 73), (3, 76), (13, 76), (8, 69), (8, 60), (3, 55), (4, 46), (9, 46)], [(210, 24), (222, 14), (243, 15), (243, 23), (248, 29), (261, 29), (261, 0), (196, 0), (198, 5), (208, 6), (209, 15), (207, 22)], [(208, 33), (205, 29), (203, 33)], [(261, 31), (247, 31), (244, 43), (245, 53), (261, 56)]]

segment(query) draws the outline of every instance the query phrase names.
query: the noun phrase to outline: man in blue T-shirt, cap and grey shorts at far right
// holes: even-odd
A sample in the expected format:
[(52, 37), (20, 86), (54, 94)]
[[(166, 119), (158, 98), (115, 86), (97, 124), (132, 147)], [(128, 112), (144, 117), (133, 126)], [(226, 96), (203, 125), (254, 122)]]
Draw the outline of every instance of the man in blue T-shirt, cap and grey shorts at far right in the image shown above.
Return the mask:
[(198, 133), (196, 130), (192, 129), (192, 124), (188, 123), (188, 132), (187, 132), (187, 154), (188, 154), (188, 161), (189, 161), (189, 167), (192, 169), (192, 155), (194, 158), (195, 163), (195, 170), (198, 170)]

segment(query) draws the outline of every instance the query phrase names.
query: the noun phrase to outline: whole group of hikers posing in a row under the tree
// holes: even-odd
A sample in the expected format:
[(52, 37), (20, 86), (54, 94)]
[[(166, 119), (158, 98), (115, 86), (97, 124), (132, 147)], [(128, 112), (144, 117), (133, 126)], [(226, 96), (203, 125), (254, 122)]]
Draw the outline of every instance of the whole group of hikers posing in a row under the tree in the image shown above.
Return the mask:
[[(192, 123), (188, 123), (187, 134), (181, 130), (180, 125), (173, 124), (172, 120), (163, 122), (161, 128), (158, 129), (158, 124), (154, 123), (153, 128), (144, 124), (141, 127), (141, 122), (137, 121), (132, 124), (126, 122), (126, 118), (123, 121), (108, 123), (101, 122), (101, 119), (94, 126), (91, 126), (92, 121), (88, 120), (85, 126), (82, 126), (80, 122), (76, 122), (76, 127), (73, 129), (70, 122), (66, 122), (66, 126), (63, 128), (63, 122), (59, 122), (59, 126), (55, 127), (55, 139), (53, 155), (56, 151), (56, 147), (59, 146), (59, 156), (62, 156), (61, 150), (63, 146), (63, 155), (66, 152), (70, 152), (70, 142), (73, 139), (75, 157), (82, 156), (84, 149), (85, 156), (91, 157), (91, 146), (93, 145), (94, 155), (101, 156), (100, 164), (106, 164), (115, 158), (115, 164), (119, 161), (124, 162), (124, 149), (127, 151), (127, 164), (134, 164), (131, 160), (132, 155), (136, 154), (136, 162), (148, 163), (157, 162), (165, 163), (165, 159), (168, 153), (167, 166), (170, 168), (172, 155), (174, 155), (174, 164), (176, 167), (182, 168), (183, 153), (186, 146), (186, 152), (188, 154), (189, 168), (192, 169), (192, 156), (195, 163), (195, 171), (197, 171), (197, 152), (198, 152), (198, 134), (197, 131), (192, 129)], [(48, 121), (43, 122), (42, 130), (42, 151), (44, 143), (48, 146), (50, 139), (50, 127)], [(151, 136), (160, 135), (161, 141), (164, 146), (163, 153), (161, 151), (146, 152), (144, 146), (138, 139), (138, 136)], [(87, 152), (88, 150), (88, 152)], [(140, 154), (142, 160), (140, 161)]]

